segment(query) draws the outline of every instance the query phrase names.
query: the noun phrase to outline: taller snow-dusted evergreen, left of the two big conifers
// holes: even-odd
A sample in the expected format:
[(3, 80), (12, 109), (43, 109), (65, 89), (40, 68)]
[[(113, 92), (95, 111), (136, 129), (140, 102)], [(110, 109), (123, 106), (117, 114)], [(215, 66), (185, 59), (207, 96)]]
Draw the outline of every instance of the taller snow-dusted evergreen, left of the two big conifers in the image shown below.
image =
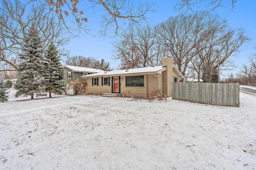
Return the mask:
[(42, 41), (38, 35), (35, 25), (28, 30), (24, 36), (22, 43), (22, 54), (19, 55), (22, 63), (18, 64), (19, 79), (16, 83), (18, 90), (15, 97), (31, 96), (34, 98), (34, 93), (41, 91), (43, 77), (40, 71), (42, 65)]

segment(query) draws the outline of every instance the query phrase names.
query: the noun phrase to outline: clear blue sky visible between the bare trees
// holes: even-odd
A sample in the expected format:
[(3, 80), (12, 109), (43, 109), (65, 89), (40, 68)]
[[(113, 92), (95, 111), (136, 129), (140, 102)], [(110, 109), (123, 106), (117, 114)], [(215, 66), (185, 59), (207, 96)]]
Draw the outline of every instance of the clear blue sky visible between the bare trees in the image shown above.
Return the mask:
[[(175, 0), (157, 0), (156, 7), (158, 7), (155, 13), (148, 13), (146, 17), (151, 21), (152, 25), (166, 21), (170, 16), (176, 16), (179, 12), (175, 12), (172, 5)], [(200, 8), (203, 10), (202, 8)], [(241, 52), (236, 54), (236, 57), (232, 57), (238, 68), (234, 72), (240, 70), (242, 64), (248, 63), (248, 56), (256, 53), (256, 1), (255, 0), (238, 0), (234, 8), (234, 12), (230, 12), (231, 7), (218, 8), (216, 13), (222, 18), (228, 20), (228, 24), (232, 28), (243, 27), (252, 41), (241, 47)], [(89, 18), (89, 29), (92, 29), (91, 34), (96, 35), (84, 35), (84, 37), (74, 38), (68, 45), (65, 45), (66, 50), (70, 50), (70, 56), (82, 55), (84, 57), (94, 57), (96, 59), (105, 59), (110, 63), (110, 66), (115, 69), (120, 64), (120, 61), (111, 59), (113, 46), (111, 42), (114, 40), (109, 37), (98, 37), (97, 32), (101, 29), (100, 21), (102, 20), (100, 14), (102, 14), (102, 8), (99, 6), (94, 8), (96, 14), (93, 18)], [(143, 23), (145, 24), (145, 23)], [(72, 26), (72, 25), (71, 25)], [(74, 25), (76, 26), (76, 25)], [(116, 37), (118, 39), (118, 37)]]

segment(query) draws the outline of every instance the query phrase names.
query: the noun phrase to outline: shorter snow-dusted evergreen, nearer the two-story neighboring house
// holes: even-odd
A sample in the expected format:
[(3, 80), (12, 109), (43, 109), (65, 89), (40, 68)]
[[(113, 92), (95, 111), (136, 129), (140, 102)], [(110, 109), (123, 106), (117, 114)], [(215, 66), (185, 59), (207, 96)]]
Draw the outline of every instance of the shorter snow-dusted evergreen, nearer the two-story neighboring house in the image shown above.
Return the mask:
[(53, 43), (50, 43), (46, 54), (44, 56), (44, 89), (49, 92), (50, 98), (51, 92), (60, 93), (64, 89), (63, 74), (64, 70), (60, 63), (60, 56)]

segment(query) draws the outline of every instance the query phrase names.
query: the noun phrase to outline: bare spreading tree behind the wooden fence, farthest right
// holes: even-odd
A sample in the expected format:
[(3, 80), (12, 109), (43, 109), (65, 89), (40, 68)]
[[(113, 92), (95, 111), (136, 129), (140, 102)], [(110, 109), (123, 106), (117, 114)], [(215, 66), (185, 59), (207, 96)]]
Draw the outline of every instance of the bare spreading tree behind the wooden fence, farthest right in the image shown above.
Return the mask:
[(216, 72), (218, 65), (220, 70), (234, 68), (234, 61), (230, 59), (230, 56), (234, 55), (234, 52), (237, 52), (244, 43), (250, 41), (242, 28), (232, 29), (225, 24), (219, 31), (215, 30), (212, 35), (208, 34), (207, 41), (203, 41), (207, 47), (198, 53), (206, 82), (211, 82), (214, 74), (218, 74)]

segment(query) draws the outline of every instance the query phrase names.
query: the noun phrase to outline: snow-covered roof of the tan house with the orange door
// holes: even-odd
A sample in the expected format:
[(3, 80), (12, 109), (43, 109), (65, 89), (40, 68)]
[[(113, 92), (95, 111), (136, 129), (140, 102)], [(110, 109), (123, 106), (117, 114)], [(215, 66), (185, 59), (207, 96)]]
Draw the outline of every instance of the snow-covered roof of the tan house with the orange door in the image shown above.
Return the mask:
[(163, 66), (154, 66), (154, 67), (143, 67), (143, 68), (131, 68), (125, 70), (112, 70), (108, 72), (99, 72), (95, 74), (89, 74), (86, 76), (82, 76), (82, 78), (86, 77), (94, 77), (94, 76), (113, 76), (113, 75), (124, 75), (124, 74), (150, 74), (153, 72), (161, 73), (166, 70), (166, 67)]

